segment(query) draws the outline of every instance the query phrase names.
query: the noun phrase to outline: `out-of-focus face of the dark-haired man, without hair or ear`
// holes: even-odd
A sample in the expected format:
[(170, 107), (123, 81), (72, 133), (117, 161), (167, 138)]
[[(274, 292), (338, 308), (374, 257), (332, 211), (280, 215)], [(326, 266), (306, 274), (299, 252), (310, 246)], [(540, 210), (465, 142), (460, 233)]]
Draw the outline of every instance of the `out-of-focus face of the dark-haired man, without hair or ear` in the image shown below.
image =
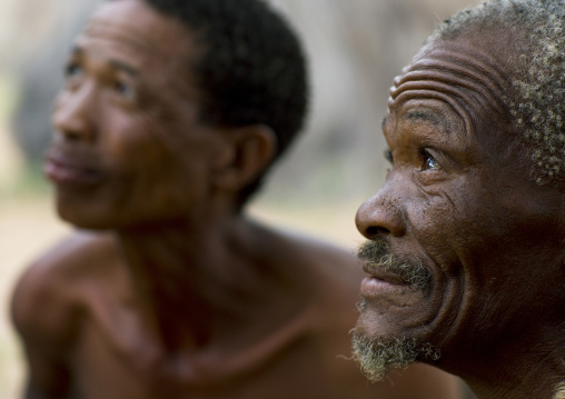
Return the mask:
[(206, 215), (220, 139), (199, 122), (188, 72), (198, 54), (180, 23), (141, 0), (98, 10), (53, 111), (44, 169), (63, 219), (115, 228)]

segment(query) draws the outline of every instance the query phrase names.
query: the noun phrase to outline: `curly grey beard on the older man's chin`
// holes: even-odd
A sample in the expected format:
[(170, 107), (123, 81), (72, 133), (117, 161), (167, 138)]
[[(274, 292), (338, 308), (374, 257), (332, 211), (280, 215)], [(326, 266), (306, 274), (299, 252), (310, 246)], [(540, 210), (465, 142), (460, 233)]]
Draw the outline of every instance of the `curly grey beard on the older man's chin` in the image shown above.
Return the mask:
[(370, 381), (381, 381), (394, 369), (417, 361), (436, 361), (439, 350), (432, 343), (407, 337), (367, 337), (358, 327), (353, 331), (353, 359)]

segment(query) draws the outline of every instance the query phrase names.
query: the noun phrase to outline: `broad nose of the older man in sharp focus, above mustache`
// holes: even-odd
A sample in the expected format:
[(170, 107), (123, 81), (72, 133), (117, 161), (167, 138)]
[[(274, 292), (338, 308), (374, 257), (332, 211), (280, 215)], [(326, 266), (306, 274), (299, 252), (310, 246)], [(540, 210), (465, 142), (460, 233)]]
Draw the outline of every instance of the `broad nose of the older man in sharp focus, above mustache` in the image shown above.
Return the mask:
[(366, 200), (357, 210), (357, 230), (368, 239), (391, 235), (402, 237), (406, 225), (399, 199), (391, 193), (393, 184), (386, 183), (375, 196)]

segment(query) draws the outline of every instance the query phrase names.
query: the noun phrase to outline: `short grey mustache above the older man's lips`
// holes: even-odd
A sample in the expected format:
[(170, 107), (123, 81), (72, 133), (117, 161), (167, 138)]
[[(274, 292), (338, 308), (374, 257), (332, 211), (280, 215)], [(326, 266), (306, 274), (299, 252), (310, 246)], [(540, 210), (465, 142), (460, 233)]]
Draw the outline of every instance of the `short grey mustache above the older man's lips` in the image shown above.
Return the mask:
[(364, 260), (369, 269), (384, 270), (425, 293), (432, 288), (432, 272), (418, 261), (400, 260), (394, 256), (385, 240), (365, 242), (359, 247), (357, 257)]

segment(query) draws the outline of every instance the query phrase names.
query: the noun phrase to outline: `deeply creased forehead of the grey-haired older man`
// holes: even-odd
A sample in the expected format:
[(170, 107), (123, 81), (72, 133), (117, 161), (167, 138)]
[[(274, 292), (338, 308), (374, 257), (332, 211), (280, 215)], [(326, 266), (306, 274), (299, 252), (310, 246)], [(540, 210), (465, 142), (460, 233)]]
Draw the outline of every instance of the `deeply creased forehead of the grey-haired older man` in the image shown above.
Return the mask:
[[(506, 120), (511, 79), (497, 46), (477, 38), (438, 40), (424, 47), (390, 89), (389, 112), (435, 103), (443, 116), (465, 127), (468, 139)], [(503, 57), (500, 57), (503, 56)]]

